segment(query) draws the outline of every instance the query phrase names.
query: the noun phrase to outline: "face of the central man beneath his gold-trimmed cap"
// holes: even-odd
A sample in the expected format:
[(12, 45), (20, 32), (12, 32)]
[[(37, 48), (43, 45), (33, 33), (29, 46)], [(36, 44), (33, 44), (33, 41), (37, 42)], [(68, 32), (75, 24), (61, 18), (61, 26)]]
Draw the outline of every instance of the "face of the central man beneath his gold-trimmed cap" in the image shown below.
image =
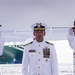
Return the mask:
[(41, 41), (43, 41), (43, 37), (45, 36), (46, 33), (45, 33), (45, 31), (38, 30), (38, 31), (34, 31), (33, 34), (34, 34), (36, 40), (38, 42), (41, 42)]

